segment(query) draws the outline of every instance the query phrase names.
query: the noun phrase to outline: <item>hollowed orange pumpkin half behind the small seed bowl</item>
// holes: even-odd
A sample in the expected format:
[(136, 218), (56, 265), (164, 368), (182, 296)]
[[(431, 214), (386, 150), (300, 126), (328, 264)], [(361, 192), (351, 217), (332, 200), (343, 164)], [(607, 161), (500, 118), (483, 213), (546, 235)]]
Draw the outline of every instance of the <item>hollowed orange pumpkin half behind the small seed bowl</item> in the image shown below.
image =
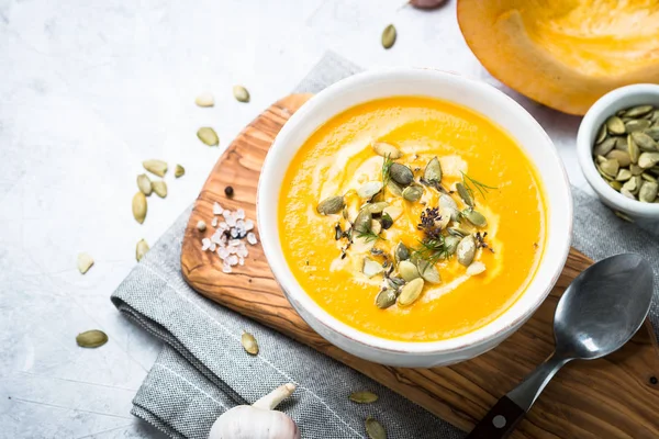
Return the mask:
[(467, 44), (492, 76), (584, 114), (629, 83), (659, 83), (658, 0), (458, 0)]

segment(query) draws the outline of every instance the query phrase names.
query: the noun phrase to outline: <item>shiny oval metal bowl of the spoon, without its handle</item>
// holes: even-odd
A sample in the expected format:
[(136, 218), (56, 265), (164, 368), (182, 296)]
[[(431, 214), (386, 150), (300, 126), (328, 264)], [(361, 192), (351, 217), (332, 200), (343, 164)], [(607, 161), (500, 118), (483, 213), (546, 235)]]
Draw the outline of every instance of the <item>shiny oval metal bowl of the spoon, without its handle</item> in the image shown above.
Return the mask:
[(638, 255), (617, 255), (583, 271), (558, 302), (556, 354), (593, 360), (636, 334), (652, 301), (652, 269)]

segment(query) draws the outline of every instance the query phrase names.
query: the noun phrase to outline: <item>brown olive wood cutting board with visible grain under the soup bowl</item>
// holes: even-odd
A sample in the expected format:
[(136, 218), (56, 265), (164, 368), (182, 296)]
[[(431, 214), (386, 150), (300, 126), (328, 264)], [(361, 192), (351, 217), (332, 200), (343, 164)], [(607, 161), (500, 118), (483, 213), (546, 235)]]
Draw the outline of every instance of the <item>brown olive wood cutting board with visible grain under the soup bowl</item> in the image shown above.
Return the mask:
[[(256, 188), (266, 153), (291, 114), (311, 94), (271, 105), (230, 145), (206, 180), (182, 244), (182, 273), (204, 296), (344, 362), (429, 412), (470, 430), (494, 403), (547, 358), (554, 347), (558, 299), (592, 260), (571, 249), (549, 297), (535, 315), (495, 349), (459, 364), (433, 369), (391, 368), (360, 360), (332, 346), (293, 311), (268, 268), (260, 245), (243, 267), (225, 274), (216, 254), (201, 251), (213, 202), (256, 219)], [(224, 188), (232, 185), (228, 199)], [(209, 225), (197, 230), (199, 219)], [(621, 291), (621, 294), (625, 294)], [(264, 352), (266, 353), (266, 352)], [(549, 383), (513, 438), (659, 438), (659, 350), (643, 328), (622, 350), (600, 360), (574, 361)], [(347, 395), (346, 395), (347, 397)]]

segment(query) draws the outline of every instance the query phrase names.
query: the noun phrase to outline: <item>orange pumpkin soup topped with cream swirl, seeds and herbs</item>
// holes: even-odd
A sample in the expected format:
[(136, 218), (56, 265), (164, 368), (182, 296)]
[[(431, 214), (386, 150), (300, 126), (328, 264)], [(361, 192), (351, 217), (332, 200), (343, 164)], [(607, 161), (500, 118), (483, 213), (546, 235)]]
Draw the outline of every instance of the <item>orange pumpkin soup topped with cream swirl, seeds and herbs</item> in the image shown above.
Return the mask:
[(501, 315), (536, 271), (546, 221), (536, 171), (511, 137), (417, 97), (321, 126), (287, 170), (278, 216), (304, 291), (345, 324), (403, 341)]

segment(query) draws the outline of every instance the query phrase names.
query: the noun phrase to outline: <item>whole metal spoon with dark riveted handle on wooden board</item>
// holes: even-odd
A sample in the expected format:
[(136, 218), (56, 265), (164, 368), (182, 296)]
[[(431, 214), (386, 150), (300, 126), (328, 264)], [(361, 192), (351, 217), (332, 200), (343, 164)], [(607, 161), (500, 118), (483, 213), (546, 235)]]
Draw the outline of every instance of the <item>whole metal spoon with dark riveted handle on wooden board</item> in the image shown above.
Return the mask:
[(604, 357), (643, 325), (652, 300), (652, 269), (638, 255), (617, 255), (583, 271), (554, 315), (556, 350), (492, 407), (467, 439), (507, 437), (567, 362)]

